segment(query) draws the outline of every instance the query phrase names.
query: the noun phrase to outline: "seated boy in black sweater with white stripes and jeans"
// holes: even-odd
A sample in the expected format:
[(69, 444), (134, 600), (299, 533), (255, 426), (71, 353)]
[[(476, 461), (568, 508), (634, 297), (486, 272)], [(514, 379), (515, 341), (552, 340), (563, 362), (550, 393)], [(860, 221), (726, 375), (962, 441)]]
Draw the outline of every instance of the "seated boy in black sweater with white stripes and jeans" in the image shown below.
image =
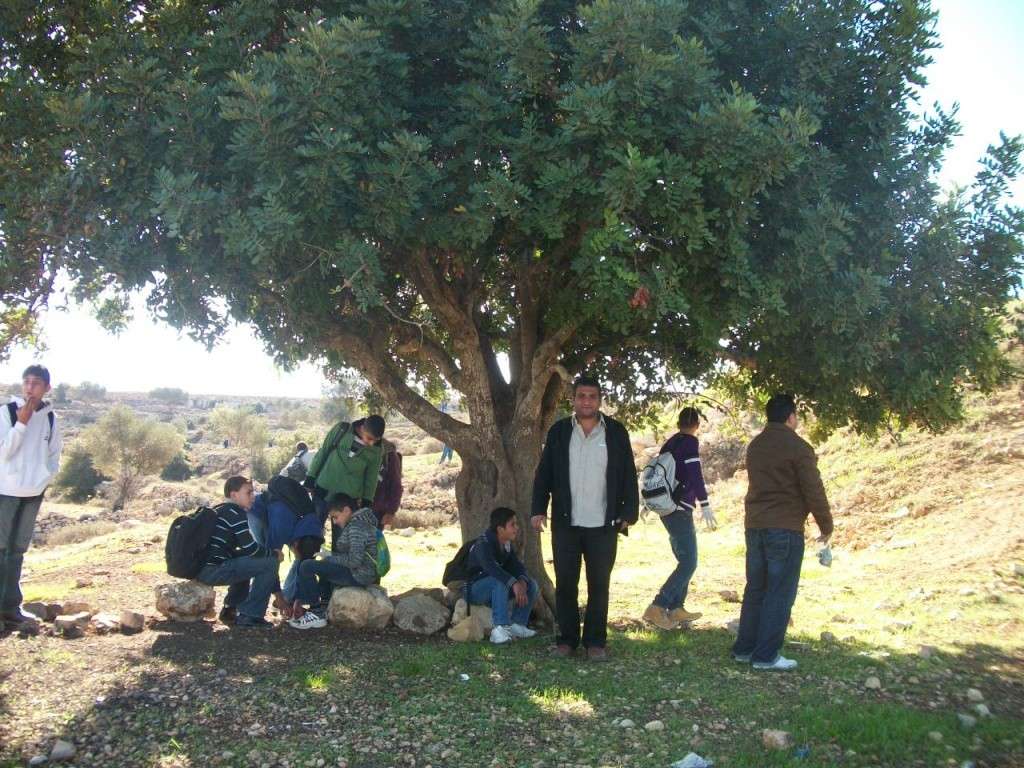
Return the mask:
[(217, 505), (217, 522), (206, 564), (197, 581), (227, 586), (220, 620), (237, 627), (272, 627), (266, 621), (270, 594), (278, 588), (280, 553), (274, 556), (261, 546), (249, 527), (247, 512), (253, 506), (252, 481), (234, 475), (224, 483), (227, 501)]

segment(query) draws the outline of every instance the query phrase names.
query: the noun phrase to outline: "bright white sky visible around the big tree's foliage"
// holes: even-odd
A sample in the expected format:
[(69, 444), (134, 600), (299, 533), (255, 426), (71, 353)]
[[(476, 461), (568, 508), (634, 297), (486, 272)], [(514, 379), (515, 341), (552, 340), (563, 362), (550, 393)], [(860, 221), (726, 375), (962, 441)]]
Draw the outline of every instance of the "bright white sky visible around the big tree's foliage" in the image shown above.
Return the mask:
[[(926, 71), (929, 85), (921, 106), (959, 102), (963, 135), (940, 175), (944, 187), (967, 184), (977, 161), (999, 131), (1024, 133), (1024, 2), (1022, 0), (935, 0), (942, 48), (933, 51)], [(1017, 95), (1014, 95), (1017, 94)], [(1024, 205), (1024, 181), (1013, 188)], [(178, 387), (194, 394), (318, 397), (325, 381), (305, 365), (278, 369), (252, 329), (236, 327), (213, 349), (154, 322), (141, 297), (135, 319), (118, 336), (105, 333), (88, 308), (48, 311), (42, 323), (46, 350), (16, 349), (0, 362), (0, 382), (15, 382), (37, 359), (50, 369), (53, 384), (93, 381), (111, 391), (148, 391)]]

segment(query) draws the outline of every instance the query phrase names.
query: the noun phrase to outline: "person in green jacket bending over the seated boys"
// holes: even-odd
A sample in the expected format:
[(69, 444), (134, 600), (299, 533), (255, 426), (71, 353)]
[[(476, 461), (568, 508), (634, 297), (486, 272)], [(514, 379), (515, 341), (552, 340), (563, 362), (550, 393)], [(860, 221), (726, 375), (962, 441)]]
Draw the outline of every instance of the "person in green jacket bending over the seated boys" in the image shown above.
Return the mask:
[[(356, 508), (369, 507), (377, 493), (384, 450), (384, 419), (373, 414), (351, 424), (336, 424), (313, 457), (305, 484), (313, 492), (325, 515), (323, 501), (337, 494), (351, 498)], [(339, 529), (331, 525), (332, 545)]]

